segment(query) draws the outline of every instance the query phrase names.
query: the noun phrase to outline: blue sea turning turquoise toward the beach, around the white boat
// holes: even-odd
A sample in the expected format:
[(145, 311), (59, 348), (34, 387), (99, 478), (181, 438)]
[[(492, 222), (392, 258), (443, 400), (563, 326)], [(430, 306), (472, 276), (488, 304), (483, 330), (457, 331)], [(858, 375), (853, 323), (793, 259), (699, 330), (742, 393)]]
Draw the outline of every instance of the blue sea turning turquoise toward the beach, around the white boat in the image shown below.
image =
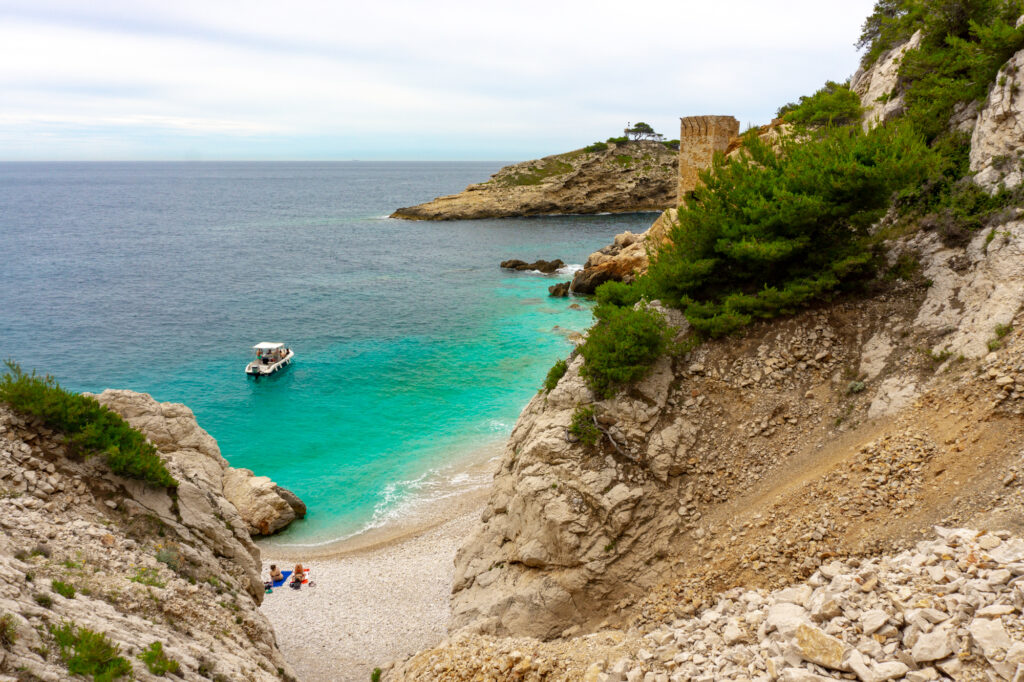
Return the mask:
[[(2, 163), (0, 358), (187, 404), (231, 466), (307, 504), (275, 543), (400, 523), (486, 484), (480, 462), (592, 321), (548, 287), (653, 221), (387, 217), (503, 165)], [(294, 365), (247, 377), (260, 341)]]

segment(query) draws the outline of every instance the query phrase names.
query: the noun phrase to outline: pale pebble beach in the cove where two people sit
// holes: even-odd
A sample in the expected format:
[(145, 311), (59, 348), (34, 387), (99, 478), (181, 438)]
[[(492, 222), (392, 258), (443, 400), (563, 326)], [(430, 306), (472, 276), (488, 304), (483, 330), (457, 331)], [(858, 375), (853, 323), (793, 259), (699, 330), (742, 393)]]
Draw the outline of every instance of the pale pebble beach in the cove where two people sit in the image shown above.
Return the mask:
[(444, 501), (428, 519), (316, 552), (263, 548), (264, 577), (271, 563), (312, 569), (314, 587), (274, 588), (261, 607), (300, 680), (366, 682), (374, 668), (444, 637), (455, 554), (488, 487)]

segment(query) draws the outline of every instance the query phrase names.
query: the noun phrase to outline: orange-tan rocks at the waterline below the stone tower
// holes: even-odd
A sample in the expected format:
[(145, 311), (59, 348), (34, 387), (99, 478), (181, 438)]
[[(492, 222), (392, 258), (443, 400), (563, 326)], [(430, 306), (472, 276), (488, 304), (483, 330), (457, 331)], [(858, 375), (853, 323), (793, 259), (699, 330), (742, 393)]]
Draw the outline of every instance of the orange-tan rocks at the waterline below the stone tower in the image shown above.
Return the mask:
[(632, 282), (646, 272), (648, 252), (656, 251), (668, 241), (676, 213), (676, 209), (666, 210), (654, 224), (640, 235), (615, 235), (610, 245), (592, 253), (583, 269), (573, 275), (571, 291), (575, 294), (593, 294), (605, 282)]

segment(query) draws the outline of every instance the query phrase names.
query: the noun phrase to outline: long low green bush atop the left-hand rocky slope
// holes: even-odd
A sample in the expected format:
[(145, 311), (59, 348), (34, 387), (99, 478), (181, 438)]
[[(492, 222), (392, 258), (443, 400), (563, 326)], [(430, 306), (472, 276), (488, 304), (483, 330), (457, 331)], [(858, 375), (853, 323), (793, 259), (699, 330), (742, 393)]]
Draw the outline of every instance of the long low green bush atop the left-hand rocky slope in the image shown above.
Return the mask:
[(62, 431), (70, 456), (101, 454), (116, 474), (164, 487), (178, 484), (153, 443), (95, 398), (60, 388), (49, 375), (26, 374), (13, 360), (5, 365), (7, 372), (0, 377), (0, 401)]

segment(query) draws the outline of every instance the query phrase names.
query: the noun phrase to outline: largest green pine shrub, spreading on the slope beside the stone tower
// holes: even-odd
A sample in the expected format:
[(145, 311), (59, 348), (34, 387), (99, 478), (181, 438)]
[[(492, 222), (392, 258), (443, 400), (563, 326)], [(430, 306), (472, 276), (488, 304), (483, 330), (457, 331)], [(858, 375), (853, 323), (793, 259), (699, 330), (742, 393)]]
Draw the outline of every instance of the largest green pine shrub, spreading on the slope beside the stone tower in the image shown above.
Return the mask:
[(934, 165), (905, 127), (828, 127), (778, 151), (754, 134), (744, 141), (748, 155), (719, 156), (702, 173), (671, 243), (634, 285), (705, 336), (791, 314), (870, 275), (868, 227)]

